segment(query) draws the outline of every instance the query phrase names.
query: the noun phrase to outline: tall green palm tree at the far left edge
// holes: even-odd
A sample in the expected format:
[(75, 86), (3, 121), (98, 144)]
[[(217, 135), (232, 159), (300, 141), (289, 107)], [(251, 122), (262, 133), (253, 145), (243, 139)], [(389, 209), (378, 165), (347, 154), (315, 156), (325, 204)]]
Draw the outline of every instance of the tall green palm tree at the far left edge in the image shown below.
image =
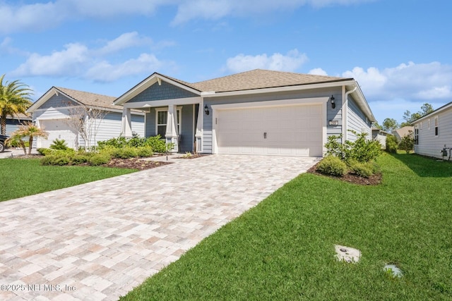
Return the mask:
[(6, 135), (6, 116), (14, 117), (14, 114), (25, 113), (32, 104), (30, 95), (32, 90), (28, 85), (14, 80), (4, 82), (5, 75), (0, 76), (0, 128), (1, 135)]

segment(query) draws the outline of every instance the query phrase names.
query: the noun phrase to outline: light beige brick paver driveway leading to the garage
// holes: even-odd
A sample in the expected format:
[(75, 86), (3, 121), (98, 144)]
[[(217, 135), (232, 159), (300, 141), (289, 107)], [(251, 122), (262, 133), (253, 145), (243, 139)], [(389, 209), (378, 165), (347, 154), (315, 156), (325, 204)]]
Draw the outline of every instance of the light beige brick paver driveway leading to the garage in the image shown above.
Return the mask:
[(1, 202), (0, 299), (117, 300), (316, 160), (178, 159)]

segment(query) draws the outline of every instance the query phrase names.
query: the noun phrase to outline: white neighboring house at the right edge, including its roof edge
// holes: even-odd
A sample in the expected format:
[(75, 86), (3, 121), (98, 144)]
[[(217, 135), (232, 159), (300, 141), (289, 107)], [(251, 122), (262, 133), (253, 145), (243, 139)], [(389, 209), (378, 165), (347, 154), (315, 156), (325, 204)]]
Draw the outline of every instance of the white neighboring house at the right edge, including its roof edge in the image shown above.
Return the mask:
[(415, 153), (442, 158), (452, 147), (452, 102), (411, 123), (414, 125)]

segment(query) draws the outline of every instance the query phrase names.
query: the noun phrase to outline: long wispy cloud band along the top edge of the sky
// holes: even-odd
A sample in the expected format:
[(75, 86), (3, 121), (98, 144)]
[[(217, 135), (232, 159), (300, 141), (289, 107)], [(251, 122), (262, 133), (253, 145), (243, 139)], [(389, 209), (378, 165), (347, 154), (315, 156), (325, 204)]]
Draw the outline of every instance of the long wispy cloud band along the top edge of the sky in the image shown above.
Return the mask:
[(0, 1), (0, 32), (39, 31), (83, 18), (151, 16), (160, 6), (177, 6), (172, 23), (197, 18), (218, 20), (225, 16), (248, 18), (256, 14), (289, 11), (302, 6), (322, 8), (375, 0), (55, 0), (38, 4), (7, 4)]

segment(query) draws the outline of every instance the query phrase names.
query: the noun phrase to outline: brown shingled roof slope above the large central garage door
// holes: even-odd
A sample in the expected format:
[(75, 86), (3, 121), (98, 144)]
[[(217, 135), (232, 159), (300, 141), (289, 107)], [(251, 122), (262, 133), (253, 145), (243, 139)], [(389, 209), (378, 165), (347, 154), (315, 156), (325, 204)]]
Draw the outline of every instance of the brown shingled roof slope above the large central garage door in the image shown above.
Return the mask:
[[(175, 80), (174, 78), (171, 78)], [(333, 76), (290, 73), (273, 70), (256, 69), (228, 75), (213, 80), (205, 80), (189, 84), (176, 80), (183, 85), (188, 85), (201, 92), (232, 92), (242, 90), (255, 90), (271, 87), (287, 87), (293, 85), (309, 85), (323, 82), (339, 82), (352, 80), (352, 78), (337, 78)]]

